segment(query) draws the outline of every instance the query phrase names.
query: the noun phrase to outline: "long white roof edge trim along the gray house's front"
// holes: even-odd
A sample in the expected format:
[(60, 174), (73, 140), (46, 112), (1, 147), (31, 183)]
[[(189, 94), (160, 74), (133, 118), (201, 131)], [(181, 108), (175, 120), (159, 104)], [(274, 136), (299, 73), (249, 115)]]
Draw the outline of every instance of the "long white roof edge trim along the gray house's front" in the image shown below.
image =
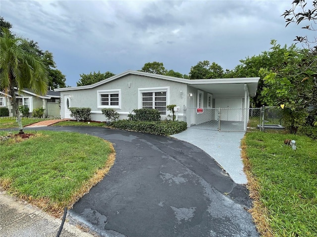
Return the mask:
[(164, 79), (164, 80), (170, 80), (170, 81), (176, 81), (181, 82), (189, 85), (197, 85), (197, 84), (228, 84), (228, 83), (258, 83), (260, 78), (224, 78), (224, 79), (183, 79), (183, 78), (174, 78), (174, 77), (168, 77), (163, 76), (159, 74), (152, 74), (152, 73), (145, 73), (140, 71), (126, 71), (124, 73), (115, 75), (111, 78), (107, 78), (105, 80), (101, 80), (99, 82), (96, 82), (92, 85), (83, 85), (83, 86), (77, 86), (77, 87), (65, 87), (65, 88), (56, 88), (55, 91), (70, 91), (70, 90), (84, 90), (84, 89), (92, 89), (94, 87), (97, 87), (99, 85), (105, 84), (109, 81), (124, 77), (126, 75), (138, 75), (138, 76), (145, 76), (150, 78), (157, 78), (157, 79)]

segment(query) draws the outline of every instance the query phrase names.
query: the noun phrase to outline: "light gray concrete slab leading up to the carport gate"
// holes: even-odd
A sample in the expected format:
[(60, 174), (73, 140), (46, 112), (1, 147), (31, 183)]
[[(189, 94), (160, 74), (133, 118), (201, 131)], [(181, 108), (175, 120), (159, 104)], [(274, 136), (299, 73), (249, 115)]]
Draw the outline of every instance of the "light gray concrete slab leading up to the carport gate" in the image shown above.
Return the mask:
[(214, 158), (235, 183), (246, 184), (248, 180), (240, 154), (240, 143), (244, 135), (245, 132), (219, 132), (189, 127), (171, 137), (199, 147)]

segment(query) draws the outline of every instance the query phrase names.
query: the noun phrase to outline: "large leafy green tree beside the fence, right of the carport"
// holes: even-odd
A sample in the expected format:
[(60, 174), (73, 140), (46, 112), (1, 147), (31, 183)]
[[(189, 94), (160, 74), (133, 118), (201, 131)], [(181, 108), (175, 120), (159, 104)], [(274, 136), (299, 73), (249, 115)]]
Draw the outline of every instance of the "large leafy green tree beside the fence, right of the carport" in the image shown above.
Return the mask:
[(307, 108), (317, 103), (317, 83), (303, 79), (312, 73), (308, 65), (317, 66), (316, 57), (308, 58), (307, 51), (295, 45), (281, 48), (275, 42), (272, 55), (280, 55), (282, 60), (276, 67), (259, 72), (264, 82), (261, 92), (263, 102), (269, 106), (284, 105), (283, 120), (291, 133), (296, 133), (305, 124)]

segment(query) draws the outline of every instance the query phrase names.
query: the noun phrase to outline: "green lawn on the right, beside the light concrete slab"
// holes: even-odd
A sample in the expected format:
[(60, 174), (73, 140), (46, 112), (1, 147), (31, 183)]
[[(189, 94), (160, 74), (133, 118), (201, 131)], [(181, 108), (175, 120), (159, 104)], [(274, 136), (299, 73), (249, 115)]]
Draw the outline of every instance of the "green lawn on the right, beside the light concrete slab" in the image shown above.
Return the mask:
[[(297, 150), (284, 145), (296, 140)], [(317, 236), (317, 141), (307, 136), (247, 133), (250, 172), (276, 237)]]

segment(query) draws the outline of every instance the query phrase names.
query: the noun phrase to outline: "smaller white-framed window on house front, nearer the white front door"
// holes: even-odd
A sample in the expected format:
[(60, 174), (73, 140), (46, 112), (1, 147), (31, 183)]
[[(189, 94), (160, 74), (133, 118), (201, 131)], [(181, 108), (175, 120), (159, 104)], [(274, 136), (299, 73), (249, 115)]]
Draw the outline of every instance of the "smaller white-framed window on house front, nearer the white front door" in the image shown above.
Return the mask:
[(121, 109), (121, 90), (98, 90), (98, 108)]

